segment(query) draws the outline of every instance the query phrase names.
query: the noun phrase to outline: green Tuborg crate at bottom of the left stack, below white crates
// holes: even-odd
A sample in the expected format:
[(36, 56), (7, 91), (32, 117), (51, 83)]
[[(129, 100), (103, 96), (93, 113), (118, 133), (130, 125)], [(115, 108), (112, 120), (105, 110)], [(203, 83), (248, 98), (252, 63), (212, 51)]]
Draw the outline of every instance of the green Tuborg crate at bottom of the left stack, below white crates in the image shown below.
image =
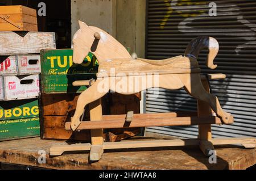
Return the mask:
[(0, 102), (0, 141), (39, 135), (38, 99)]

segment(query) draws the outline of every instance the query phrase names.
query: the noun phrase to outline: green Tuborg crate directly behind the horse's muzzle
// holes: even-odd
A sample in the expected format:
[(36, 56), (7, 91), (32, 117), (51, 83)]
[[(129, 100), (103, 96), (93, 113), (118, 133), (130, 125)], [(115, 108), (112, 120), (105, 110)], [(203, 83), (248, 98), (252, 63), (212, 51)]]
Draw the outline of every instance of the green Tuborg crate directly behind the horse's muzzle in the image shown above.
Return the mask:
[(75, 81), (96, 78), (98, 62), (89, 53), (81, 65), (73, 64), (73, 49), (41, 50), (42, 92), (76, 93), (86, 90), (85, 86), (72, 86)]

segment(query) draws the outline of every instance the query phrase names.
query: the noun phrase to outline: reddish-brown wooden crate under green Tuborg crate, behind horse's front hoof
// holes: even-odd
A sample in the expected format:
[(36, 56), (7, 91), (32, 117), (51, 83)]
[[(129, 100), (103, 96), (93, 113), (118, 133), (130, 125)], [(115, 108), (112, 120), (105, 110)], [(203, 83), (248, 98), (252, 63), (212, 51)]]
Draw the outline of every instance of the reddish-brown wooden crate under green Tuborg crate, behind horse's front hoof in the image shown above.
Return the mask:
[(79, 94), (42, 94), (40, 96), (41, 138), (90, 141), (90, 131), (65, 130), (65, 122), (75, 113)]

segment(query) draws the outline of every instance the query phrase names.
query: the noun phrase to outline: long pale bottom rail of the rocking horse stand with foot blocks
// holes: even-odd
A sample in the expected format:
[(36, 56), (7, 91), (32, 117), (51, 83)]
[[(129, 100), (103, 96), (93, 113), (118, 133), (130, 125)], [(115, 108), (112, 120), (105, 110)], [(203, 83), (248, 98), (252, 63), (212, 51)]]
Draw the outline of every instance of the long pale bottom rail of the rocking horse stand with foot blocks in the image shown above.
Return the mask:
[(90, 151), (90, 161), (98, 161), (104, 150), (134, 149), (134, 148), (159, 148), (171, 146), (200, 146), (201, 151), (206, 156), (210, 156), (210, 150), (214, 150), (213, 145), (241, 144), (245, 148), (255, 148), (255, 138), (213, 138), (210, 141), (199, 139), (177, 139), (177, 140), (149, 140), (149, 141), (121, 141), (105, 142), (103, 145), (75, 144), (53, 146), (50, 151), (51, 156), (59, 156), (66, 151)]

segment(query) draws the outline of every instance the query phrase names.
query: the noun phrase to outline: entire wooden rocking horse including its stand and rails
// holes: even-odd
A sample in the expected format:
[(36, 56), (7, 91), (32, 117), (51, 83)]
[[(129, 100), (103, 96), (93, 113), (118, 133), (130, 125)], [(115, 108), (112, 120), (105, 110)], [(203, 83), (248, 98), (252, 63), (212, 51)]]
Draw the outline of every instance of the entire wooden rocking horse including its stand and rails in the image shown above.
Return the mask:
[[(66, 129), (91, 129), (92, 144), (77, 144), (51, 148), (51, 155), (60, 155), (64, 151), (90, 150), (90, 159), (100, 159), (104, 149), (145, 148), (156, 146), (199, 145), (205, 155), (216, 144), (242, 144), (255, 147), (254, 138), (236, 138), (235, 140), (212, 139), (211, 124), (232, 124), (233, 116), (222, 110), (217, 96), (209, 92), (209, 79), (225, 78), (224, 74), (212, 74), (208, 77), (200, 74), (197, 56), (202, 49), (209, 49), (206, 64), (215, 69), (213, 60), (218, 53), (218, 42), (213, 37), (197, 37), (189, 43), (184, 56), (166, 60), (133, 59), (127, 50), (112, 36), (97, 27), (79, 22), (80, 30), (73, 37), (73, 62), (81, 64), (84, 57), (92, 52), (98, 59), (97, 79), (80, 95), (75, 115)], [(88, 81), (76, 85), (88, 85)], [(188, 94), (198, 100), (198, 115), (178, 113), (154, 113), (102, 116), (101, 98), (109, 90), (129, 95), (152, 87), (176, 90), (184, 88)], [(84, 108), (89, 104), (90, 121), (81, 122)], [(217, 116), (212, 116), (211, 110)], [(97, 122), (96, 122), (97, 121)], [(104, 143), (102, 130), (106, 128), (132, 128), (167, 125), (199, 125), (199, 139), (131, 141)]]

